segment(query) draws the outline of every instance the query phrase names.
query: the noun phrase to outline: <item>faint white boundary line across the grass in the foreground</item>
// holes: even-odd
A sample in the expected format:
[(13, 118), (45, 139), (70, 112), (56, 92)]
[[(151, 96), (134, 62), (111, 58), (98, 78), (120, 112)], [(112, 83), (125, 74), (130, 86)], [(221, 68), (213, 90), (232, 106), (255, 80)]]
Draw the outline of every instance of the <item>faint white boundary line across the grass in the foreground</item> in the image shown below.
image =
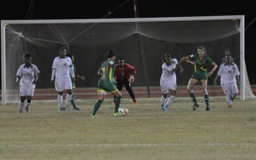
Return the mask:
[(102, 143), (102, 144), (44, 144), (44, 145), (0, 145), (0, 148), (41, 148), (41, 147), (112, 147), (112, 146), (123, 146), (123, 147), (155, 147), (155, 146), (256, 146), (256, 143)]

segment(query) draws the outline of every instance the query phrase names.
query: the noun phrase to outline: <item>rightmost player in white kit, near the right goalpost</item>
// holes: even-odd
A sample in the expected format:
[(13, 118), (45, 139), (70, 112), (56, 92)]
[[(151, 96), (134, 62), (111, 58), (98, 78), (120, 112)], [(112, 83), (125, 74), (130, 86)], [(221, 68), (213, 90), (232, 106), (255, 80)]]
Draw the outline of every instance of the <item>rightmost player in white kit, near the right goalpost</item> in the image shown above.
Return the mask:
[(237, 84), (240, 84), (239, 75), (236, 64), (232, 63), (232, 58), (230, 56), (226, 57), (226, 63), (220, 66), (214, 84), (217, 84), (217, 80), (221, 77), (220, 84), (226, 94), (228, 108), (233, 108), (232, 102), (238, 94)]

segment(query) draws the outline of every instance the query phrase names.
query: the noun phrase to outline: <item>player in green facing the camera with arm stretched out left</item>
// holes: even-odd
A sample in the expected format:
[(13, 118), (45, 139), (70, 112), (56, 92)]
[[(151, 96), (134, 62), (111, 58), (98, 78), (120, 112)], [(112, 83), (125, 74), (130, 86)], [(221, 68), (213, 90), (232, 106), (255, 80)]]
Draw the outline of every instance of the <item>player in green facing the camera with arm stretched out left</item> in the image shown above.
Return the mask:
[[(199, 46), (197, 48), (198, 54), (192, 54), (192, 55), (181, 58), (181, 62), (183, 61), (189, 62), (190, 60), (190, 62), (194, 64), (194, 73), (188, 83), (188, 93), (194, 102), (194, 105), (192, 107), (193, 110), (196, 110), (196, 108), (199, 106), (197, 104), (196, 95), (192, 91), (192, 88), (196, 85), (197, 81), (202, 82), (204, 100), (206, 103), (206, 111), (210, 110), (209, 95), (207, 92), (207, 79), (208, 77), (212, 76), (213, 71), (215, 71), (218, 66), (215, 62), (213, 62), (213, 60), (210, 57), (205, 55), (205, 52), (206, 52), (205, 47)], [(213, 66), (212, 70), (209, 73), (207, 73), (207, 69), (205, 67), (207, 63), (210, 63)]]

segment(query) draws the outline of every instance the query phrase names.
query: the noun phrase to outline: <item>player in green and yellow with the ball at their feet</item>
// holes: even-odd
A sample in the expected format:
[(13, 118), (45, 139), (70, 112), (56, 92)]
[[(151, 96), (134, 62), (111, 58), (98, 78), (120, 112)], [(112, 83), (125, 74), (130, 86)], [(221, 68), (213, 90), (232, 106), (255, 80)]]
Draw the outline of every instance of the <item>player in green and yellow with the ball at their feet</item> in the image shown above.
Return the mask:
[[(109, 50), (109, 55), (107, 55), (108, 59), (101, 64), (99, 68), (98, 75), (100, 76), (98, 83), (98, 101), (94, 106), (93, 114), (91, 116), (96, 116), (97, 111), (99, 110), (101, 103), (103, 102), (105, 95), (107, 92), (115, 95), (117, 97), (115, 99), (115, 111), (114, 116), (123, 116), (123, 114), (118, 112), (118, 108), (121, 102), (122, 94), (119, 92), (117, 87), (114, 84), (114, 74), (115, 74), (115, 59), (116, 54)], [(107, 92), (106, 92), (107, 91)]]

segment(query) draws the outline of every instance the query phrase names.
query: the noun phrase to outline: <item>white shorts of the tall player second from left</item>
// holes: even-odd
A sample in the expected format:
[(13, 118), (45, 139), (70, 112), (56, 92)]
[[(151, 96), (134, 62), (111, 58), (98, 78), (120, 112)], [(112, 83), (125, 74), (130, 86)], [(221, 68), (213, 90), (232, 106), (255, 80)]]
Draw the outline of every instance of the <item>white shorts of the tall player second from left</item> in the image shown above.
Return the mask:
[(65, 89), (72, 89), (72, 81), (70, 77), (56, 78), (55, 89), (58, 92), (63, 92)]

